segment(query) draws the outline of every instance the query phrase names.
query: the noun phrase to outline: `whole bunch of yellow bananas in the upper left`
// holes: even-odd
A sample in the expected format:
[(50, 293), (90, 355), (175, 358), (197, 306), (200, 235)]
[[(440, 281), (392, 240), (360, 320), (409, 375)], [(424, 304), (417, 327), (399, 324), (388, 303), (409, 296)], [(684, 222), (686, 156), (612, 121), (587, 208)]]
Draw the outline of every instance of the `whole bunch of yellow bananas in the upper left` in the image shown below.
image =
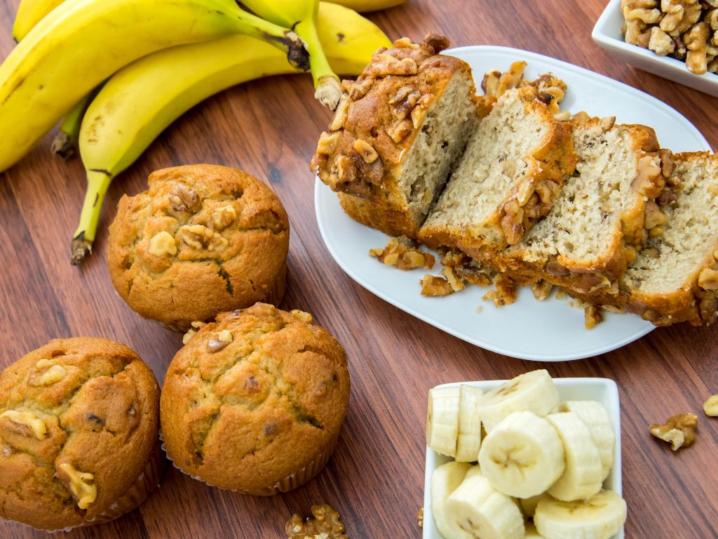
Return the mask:
[[(382, 1), (396, 3), (368, 3)], [(0, 65), (0, 171), (65, 117), (52, 151), (67, 158), (78, 145), (88, 177), (73, 264), (90, 253), (111, 180), (192, 106), (247, 80), (310, 68), (315, 96), (335, 108), (335, 73), (358, 75), (391, 46), (338, 4), (244, 5), (253, 13), (235, 0), (22, 0), (19, 45)]]

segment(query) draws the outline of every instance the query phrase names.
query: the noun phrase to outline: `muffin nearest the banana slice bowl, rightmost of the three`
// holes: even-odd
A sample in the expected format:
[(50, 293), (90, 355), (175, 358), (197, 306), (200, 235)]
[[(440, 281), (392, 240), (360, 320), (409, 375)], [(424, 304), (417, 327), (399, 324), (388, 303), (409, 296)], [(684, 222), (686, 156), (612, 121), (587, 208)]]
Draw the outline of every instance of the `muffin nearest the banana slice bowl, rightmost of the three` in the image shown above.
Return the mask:
[(335, 448), (349, 402), (342, 346), (302, 311), (266, 303), (218, 315), (172, 359), (160, 402), (169, 458), (246, 494), (287, 492)]

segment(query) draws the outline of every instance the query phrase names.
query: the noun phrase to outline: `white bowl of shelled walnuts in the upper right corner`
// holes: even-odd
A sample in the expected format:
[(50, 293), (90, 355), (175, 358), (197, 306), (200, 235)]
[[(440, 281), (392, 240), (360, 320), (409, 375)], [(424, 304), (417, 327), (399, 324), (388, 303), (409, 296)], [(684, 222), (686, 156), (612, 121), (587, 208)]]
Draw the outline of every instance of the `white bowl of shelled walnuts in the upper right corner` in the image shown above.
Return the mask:
[(592, 37), (625, 63), (718, 96), (718, 0), (610, 0)]

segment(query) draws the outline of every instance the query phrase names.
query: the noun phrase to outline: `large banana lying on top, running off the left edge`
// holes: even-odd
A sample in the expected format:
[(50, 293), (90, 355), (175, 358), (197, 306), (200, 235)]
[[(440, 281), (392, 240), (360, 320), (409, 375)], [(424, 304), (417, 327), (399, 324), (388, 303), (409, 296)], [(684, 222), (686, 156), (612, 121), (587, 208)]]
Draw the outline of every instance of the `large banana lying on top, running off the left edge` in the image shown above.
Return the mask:
[(0, 65), (0, 171), (102, 80), (151, 52), (227, 34), (267, 40), (308, 68), (304, 42), (233, 0), (65, 0)]

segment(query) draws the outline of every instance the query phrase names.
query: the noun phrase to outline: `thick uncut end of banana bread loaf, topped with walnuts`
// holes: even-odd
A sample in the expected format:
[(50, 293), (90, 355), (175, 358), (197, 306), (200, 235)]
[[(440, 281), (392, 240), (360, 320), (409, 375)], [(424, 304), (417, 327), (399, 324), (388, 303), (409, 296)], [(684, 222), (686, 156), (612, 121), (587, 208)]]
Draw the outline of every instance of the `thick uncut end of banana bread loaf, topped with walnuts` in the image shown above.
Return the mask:
[(356, 81), (345, 80), (311, 169), (360, 223), (416, 238), (449, 168), (477, 121), (476, 88), (463, 60), (429, 34), (378, 50)]

